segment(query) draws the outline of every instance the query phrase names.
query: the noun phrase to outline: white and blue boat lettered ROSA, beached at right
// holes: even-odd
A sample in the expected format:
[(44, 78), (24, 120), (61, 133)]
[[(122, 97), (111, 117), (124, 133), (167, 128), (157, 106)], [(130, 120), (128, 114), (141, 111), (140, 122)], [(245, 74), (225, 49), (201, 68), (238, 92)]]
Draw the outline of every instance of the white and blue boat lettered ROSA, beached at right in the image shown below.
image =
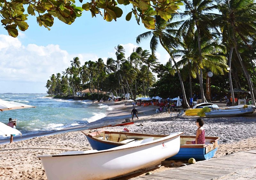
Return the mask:
[(206, 117), (225, 117), (225, 116), (241, 116), (248, 115), (255, 111), (256, 107), (239, 105), (239, 106), (230, 106), (226, 108), (217, 108), (212, 109), (211, 112), (205, 112)]

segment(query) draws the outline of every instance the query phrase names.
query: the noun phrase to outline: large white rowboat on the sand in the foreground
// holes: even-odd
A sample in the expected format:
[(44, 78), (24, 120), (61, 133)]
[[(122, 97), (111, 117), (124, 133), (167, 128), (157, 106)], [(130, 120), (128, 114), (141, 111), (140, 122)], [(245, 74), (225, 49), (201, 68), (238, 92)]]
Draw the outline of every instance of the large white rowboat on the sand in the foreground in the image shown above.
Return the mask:
[(149, 167), (180, 150), (180, 135), (153, 140), (152, 137), (108, 150), (71, 151), (58, 155), (41, 155), (49, 180), (108, 179)]

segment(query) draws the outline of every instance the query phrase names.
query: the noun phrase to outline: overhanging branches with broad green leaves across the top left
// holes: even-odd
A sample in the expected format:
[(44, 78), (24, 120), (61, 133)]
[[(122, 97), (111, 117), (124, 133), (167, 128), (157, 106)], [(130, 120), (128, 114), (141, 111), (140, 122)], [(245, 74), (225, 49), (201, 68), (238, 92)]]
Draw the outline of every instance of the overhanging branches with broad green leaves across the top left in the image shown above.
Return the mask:
[[(79, 0), (82, 2), (83, 0)], [(96, 0), (82, 4), (82, 7), (75, 5), (75, 0), (12, 0), (11, 2), (0, 1), (1, 22), (9, 35), (12, 37), (18, 36), (19, 28), (21, 31), (28, 29), (26, 22), (27, 16), (36, 16), (39, 26), (44, 26), (48, 30), (52, 27), (54, 17), (58, 18), (66, 24), (72, 24), (77, 17), (82, 15), (82, 11), (90, 11), (92, 17), (96, 14), (103, 15), (104, 20), (116, 21), (123, 15), (123, 11), (117, 5), (132, 4), (132, 11), (126, 15), (126, 20), (129, 21), (132, 13), (140, 23), (140, 19), (144, 26), (148, 29), (155, 29), (154, 15), (160, 15), (164, 20), (169, 20), (171, 14), (179, 9), (181, 0)], [(24, 14), (24, 5), (27, 7), (28, 14)], [(103, 14), (102, 12), (103, 11)]]

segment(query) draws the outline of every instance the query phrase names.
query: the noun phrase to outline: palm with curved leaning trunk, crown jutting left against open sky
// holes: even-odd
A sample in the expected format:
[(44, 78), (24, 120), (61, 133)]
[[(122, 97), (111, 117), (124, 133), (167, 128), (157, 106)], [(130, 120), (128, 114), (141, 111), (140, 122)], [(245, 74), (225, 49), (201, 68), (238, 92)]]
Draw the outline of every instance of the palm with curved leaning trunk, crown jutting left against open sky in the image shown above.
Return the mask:
[[(169, 23), (169, 22), (166, 22), (165, 20), (163, 20), (160, 16), (155, 16), (155, 19), (156, 19), (156, 29), (153, 31), (148, 31), (146, 33), (139, 35), (136, 39), (136, 42), (140, 43), (141, 40), (148, 39), (149, 37), (152, 36), (152, 38), (150, 40), (150, 49), (152, 51), (152, 55), (155, 55), (158, 43), (160, 42), (160, 44), (164, 47), (164, 49), (171, 56), (170, 49), (175, 48), (178, 44), (177, 39), (174, 37), (174, 35), (176, 35), (176, 32), (177, 32), (177, 30), (175, 30), (175, 28), (180, 25), (180, 22)], [(174, 63), (176, 71), (179, 75), (180, 85), (181, 85), (182, 94), (183, 94), (183, 98), (184, 98), (183, 106), (184, 106), (184, 108), (188, 108), (189, 105), (187, 102), (182, 77), (180, 75), (180, 70), (176, 64), (176, 61), (174, 60), (174, 58), (172, 56), (170, 58), (170, 61), (172, 61)]]

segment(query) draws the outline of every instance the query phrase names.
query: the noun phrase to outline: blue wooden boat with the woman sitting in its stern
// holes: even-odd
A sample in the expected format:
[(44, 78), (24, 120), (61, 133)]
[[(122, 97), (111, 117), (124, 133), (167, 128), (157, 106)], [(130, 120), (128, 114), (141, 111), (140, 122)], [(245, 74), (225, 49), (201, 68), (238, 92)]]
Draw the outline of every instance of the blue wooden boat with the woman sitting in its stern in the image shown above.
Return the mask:
[[(82, 131), (87, 137), (92, 149), (106, 150), (109, 148), (134, 143), (141, 139), (152, 137), (160, 139), (167, 135), (152, 135), (130, 132), (116, 132), (116, 131), (94, 131), (86, 133)], [(205, 137), (205, 144), (202, 145), (186, 145), (186, 141), (195, 140), (196, 136), (180, 136), (180, 151), (168, 160), (188, 160), (195, 158), (198, 160), (207, 160), (214, 156), (218, 150), (219, 137)]]

